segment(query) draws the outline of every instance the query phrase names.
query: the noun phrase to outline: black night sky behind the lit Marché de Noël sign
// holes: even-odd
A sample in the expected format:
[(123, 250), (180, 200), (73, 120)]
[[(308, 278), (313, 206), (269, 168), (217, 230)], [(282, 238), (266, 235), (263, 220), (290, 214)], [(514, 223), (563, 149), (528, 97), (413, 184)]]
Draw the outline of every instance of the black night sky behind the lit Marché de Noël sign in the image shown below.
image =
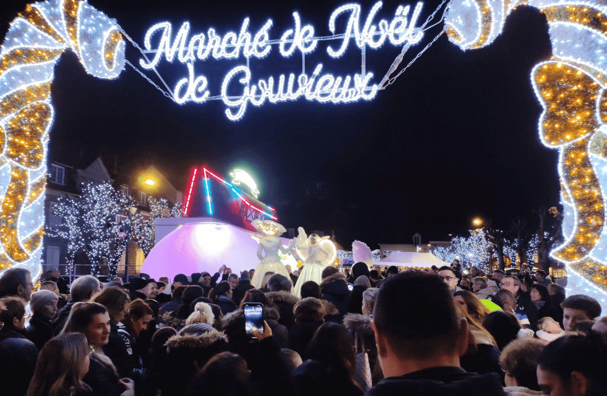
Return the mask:
[[(89, 2), (116, 18), (140, 44), (157, 22), (171, 21), (177, 30), (189, 20), (194, 32), (214, 27), (223, 35), (239, 30), (246, 16), (249, 32), (273, 19), (271, 38), (279, 38), (293, 25), (295, 10), (317, 35), (328, 35), (331, 12), (345, 3)], [(420, 19), (438, 3), (427, 2)], [(1, 36), (25, 4), (3, 2)], [(362, 3), (365, 17), (372, 4)], [(390, 19), (398, 4), (408, 3), (386, 1), (379, 16)], [(401, 66), (440, 29), (427, 32)], [(324, 72), (360, 73), (358, 47), (350, 43), (346, 55), (333, 60), (325, 52), (327, 43), (307, 56), (308, 74), (316, 63), (325, 65)], [(375, 73), (376, 83), (399, 50), (389, 43), (367, 50), (367, 70)], [(371, 247), (411, 243), (415, 232), (426, 241), (447, 240), (447, 234), (467, 234), (475, 216), (504, 229), (517, 216), (533, 224), (535, 208), (558, 203), (557, 151), (538, 139), (541, 106), (530, 80), (534, 64), (549, 56), (546, 18), (519, 7), (491, 46), (462, 52), (443, 35), (373, 101), (249, 104), (243, 119), (232, 122), (223, 114), (222, 101), (179, 105), (128, 66), (117, 80), (98, 80), (66, 53), (52, 87), (50, 157), (67, 164), (78, 162), (80, 152), (93, 158), (99, 153), (121, 160), (146, 158), (177, 188), (185, 186), (192, 165), (206, 163), (223, 175), (243, 166), (256, 177), (260, 199), (277, 208), (285, 227), (333, 229), (348, 248), (354, 239)], [(139, 58), (130, 44), (127, 58), (133, 63)], [(242, 62), (211, 59), (195, 67), (209, 78), (211, 94), (219, 95), (223, 76)], [(171, 87), (187, 73), (177, 61), (161, 61), (159, 70)], [(277, 46), (268, 58), (251, 60), (254, 81), (300, 70), (299, 53), (283, 58)]]

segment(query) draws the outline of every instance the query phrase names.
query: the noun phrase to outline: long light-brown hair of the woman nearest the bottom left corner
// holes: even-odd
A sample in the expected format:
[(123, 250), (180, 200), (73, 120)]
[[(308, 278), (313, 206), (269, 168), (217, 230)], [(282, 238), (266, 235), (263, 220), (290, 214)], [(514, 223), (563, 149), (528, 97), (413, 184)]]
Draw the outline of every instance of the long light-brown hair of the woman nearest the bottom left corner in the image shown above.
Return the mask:
[(80, 380), (89, 344), (83, 333), (64, 333), (49, 340), (38, 356), (27, 396), (69, 396), (75, 391), (90, 390)]

